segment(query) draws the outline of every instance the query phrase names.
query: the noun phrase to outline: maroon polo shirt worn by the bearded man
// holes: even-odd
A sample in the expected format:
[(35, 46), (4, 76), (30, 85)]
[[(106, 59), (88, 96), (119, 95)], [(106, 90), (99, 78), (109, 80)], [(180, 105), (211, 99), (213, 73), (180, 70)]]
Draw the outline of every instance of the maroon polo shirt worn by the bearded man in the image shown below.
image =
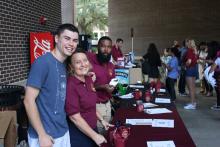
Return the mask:
[[(111, 79), (115, 78), (115, 66), (111, 63), (99, 63), (96, 54), (87, 53), (87, 57), (92, 64), (92, 70), (96, 74), (95, 85), (109, 84)], [(109, 100), (112, 95), (105, 90), (97, 90), (98, 100), (97, 103)]]

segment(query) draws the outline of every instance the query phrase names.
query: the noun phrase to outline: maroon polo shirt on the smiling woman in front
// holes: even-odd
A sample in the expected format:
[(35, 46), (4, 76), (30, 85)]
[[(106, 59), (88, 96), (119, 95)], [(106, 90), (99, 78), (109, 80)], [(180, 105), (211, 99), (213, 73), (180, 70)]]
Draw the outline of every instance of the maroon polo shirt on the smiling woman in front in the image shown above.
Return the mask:
[(67, 79), (66, 113), (68, 116), (80, 113), (91, 128), (96, 128), (96, 100), (97, 95), (91, 77), (85, 82), (75, 76)]

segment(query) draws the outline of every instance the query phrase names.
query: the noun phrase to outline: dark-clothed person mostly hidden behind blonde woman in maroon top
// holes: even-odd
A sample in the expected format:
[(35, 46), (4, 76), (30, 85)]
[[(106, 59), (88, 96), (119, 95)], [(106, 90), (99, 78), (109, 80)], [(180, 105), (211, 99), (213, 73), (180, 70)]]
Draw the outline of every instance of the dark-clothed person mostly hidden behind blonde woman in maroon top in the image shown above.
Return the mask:
[(186, 93), (186, 68), (185, 68), (185, 63), (184, 63), (184, 57), (186, 55), (187, 51), (187, 46), (188, 46), (189, 39), (185, 39), (183, 41), (183, 47), (180, 48), (180, 77), (179, 77), (179, 82), (178, 82), (178, 91), (180, 96), (187, 96)]

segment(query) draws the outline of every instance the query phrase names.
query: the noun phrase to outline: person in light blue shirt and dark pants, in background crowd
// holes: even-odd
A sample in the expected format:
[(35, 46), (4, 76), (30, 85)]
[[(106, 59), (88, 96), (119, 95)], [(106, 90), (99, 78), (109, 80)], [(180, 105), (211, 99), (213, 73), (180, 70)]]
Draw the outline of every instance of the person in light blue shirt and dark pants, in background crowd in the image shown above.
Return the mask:
[(168, 64), (163, 63), (163, 65), (167, 68), (167, 78), (166, 78), (166, 88), (170, 94), (171, 101), (176, 100), (176, 92), (175, 92), (175, 83), (179, 76), (179, 64), (178, 58), (180, 56), (180, 52), (177, 48), (173, 47), (170, 49), (170, 54), (172, 58), (168, 62)]

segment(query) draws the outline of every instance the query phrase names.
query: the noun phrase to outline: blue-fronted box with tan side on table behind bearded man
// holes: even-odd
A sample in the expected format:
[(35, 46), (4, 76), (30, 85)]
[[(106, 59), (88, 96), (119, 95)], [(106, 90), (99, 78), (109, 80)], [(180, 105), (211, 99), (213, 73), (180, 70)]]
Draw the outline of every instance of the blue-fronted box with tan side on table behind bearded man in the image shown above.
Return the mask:
[(115, 75), (121, 84), (136, 84), (137, 81), (143, 81), (141, 68), (115, 69)]

